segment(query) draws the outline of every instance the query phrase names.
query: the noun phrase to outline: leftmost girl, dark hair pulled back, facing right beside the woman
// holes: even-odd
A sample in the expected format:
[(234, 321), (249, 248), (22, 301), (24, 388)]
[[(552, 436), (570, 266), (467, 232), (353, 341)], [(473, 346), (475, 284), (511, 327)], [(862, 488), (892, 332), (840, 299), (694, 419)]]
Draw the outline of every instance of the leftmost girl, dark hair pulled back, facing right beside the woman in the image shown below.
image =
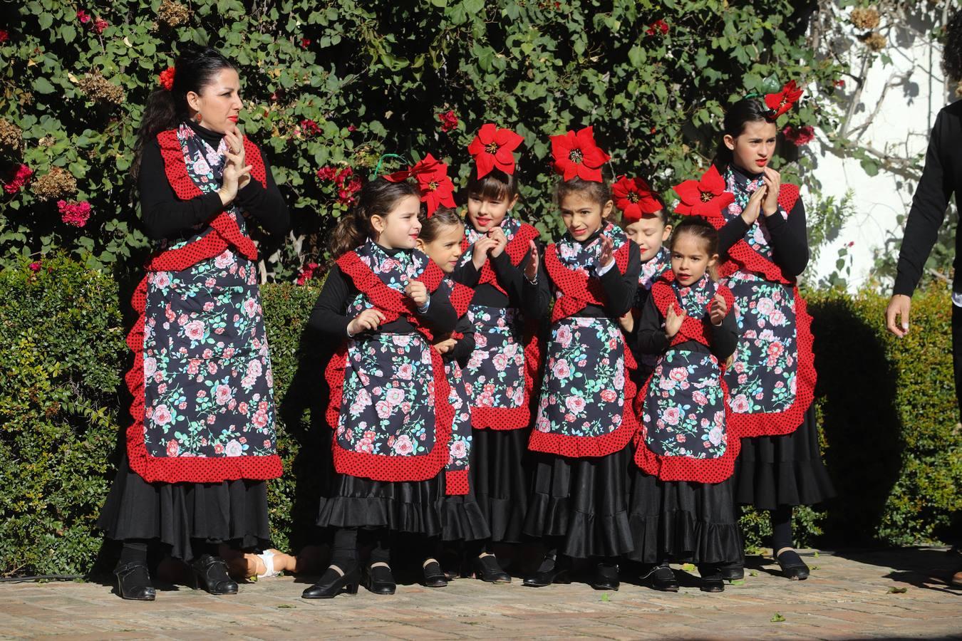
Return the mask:
[[(417, 535), (426, 548), (442, 531), (438, 497), (467, 490), (443, 474), (456, 413), (431, 343), (454, 330), (457, 313), (443, 271), (416, 249), (416, 169), (362, 187), (335, 230), (336, 264), (311, 316), (316, 331), (343, 344), (326, 371), (335, 478), (317, 516), (334, 530), (331, 564), (305, 599), (355, 592), (359, 582), (393, 594), (394, 534)], [(372, 546), (363, 573), (359, 544)], [(439, 577), (436, 563), (424, 566), (425, 582)]]

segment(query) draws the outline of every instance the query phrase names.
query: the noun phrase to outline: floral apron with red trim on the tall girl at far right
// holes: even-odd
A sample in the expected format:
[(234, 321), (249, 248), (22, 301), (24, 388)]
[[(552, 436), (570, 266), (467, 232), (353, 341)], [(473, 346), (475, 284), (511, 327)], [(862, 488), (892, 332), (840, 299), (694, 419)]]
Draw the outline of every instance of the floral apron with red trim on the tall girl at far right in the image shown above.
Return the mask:
[[(723, 225), (741, 215), (751, 194), (763, 183), (739, 185), (729, 168), (726, 190), (735, 202), (722, 211)], [(798, 198), (796, 185), (782, 185), (774, 215), (787, 218)], [(731, 390), (732, 429), (741, 436), (765, 436), (795, 431), (815, 397), (812, 318), (798, 293), (795, 279), (772, 261), (771, 236), (764, 216), (729, 251), (722, 265), (722, 282), (735, 296), (740, 329), (734, 363), (725, 373)]]

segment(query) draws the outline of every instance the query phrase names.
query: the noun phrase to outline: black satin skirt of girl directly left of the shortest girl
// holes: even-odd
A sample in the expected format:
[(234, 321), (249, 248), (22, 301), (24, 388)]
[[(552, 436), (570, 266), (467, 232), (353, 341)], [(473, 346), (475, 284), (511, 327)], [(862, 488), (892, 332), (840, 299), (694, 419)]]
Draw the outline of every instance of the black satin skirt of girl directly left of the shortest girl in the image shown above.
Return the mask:
[(631, 447), (597, 458), (537, 454), (524, 533), (563, 539), (574, 558), (620, 556), (634, 548), (628, 522)]

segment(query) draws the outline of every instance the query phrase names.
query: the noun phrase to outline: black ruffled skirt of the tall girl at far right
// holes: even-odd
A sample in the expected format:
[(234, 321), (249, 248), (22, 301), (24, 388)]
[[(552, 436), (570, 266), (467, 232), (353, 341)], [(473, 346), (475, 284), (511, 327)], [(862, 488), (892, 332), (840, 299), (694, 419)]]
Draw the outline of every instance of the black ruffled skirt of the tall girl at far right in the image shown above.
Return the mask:
[(743, 438), (733, 482), (735, 502), (760, 509), (815, 505), (835, 496), (819, 448), (814, 405), (790, 434)]

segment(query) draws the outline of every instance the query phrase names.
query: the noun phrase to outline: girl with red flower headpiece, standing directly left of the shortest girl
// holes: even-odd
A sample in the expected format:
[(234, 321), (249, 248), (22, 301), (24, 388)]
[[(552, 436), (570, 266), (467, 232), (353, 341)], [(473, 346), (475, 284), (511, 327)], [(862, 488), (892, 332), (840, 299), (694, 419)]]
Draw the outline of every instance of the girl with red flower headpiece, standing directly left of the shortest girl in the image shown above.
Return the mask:
[(553, 136), (552, 152), (568, 233), (545, 248), (543, 265), (532, 242), (525, 271), (532, 311), (544, 315), (552, 296), (554, 308), (528, 444), (538, 454), (524, 524), (547, 554), (524, 584), (567, 582), (571, 558), (592, 558), (592, 586), (617, 590), (618, 559), (633, 548), (625, 481), (637, 428), (625, 402), (635, 392), (635, 360), (618, 319), (634, 303), (641, 262), (638, 245), (608, 220), (614, 203), (601, 166), (609, 157), (592, 128)]

